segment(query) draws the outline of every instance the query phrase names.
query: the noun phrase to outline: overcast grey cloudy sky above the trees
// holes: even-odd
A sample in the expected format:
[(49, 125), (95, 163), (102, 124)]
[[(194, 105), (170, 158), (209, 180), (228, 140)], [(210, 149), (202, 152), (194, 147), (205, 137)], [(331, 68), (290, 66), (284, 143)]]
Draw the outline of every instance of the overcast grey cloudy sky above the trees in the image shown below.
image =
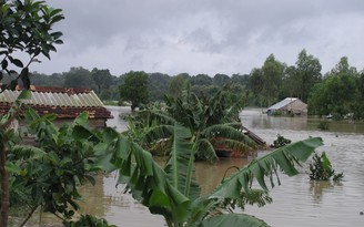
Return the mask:
[(51, 61), (32, 71), (71, 66), (170, 75), (250, 73), (273, 53), (293, 65), (302, 49), (323, 73), (347, 56), (364, 68), (363, 0), (48, 0), (63, 9)]

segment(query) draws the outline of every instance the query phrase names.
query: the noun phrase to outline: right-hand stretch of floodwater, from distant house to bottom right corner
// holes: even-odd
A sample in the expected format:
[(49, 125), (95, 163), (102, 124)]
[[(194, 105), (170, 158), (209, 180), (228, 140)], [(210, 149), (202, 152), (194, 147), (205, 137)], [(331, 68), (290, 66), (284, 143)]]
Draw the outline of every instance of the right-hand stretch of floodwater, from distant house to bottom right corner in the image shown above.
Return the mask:
[(323, 120), (272, 117), (255, 110), (241, 113), (243, 124), (273, 143), (281, 134), (292, 141), (320, 136), (335, 173), (343, 173), (341, 183), (313, 182), (305, 166), (294, 177), (281, 177), (282, 185), (270, 195), (273, 203), (264, 207), (246, 207), (246, 213), (264, 219), (273, 227), (364, 226), (364, 124), (328, 122), (328, 131), (317, 130)]

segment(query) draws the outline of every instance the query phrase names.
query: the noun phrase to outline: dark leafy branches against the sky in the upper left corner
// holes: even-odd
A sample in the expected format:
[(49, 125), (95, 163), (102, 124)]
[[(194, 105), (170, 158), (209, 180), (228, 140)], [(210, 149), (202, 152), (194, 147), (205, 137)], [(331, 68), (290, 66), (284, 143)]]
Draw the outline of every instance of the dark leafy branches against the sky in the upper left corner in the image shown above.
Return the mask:
[[(54, 44), (62, 43), (62, 32), (52, 31), (63, 19), (62, 10), (49, 8), (43, 1), (0, 0), (0, 81), (3, 78), (9, 81), (1, 90), (13, 90), (18, 83), (29, 89), (30, 64), (39, 61), (37, 56), (50, 59)], [(17, 58), (19, 53), (26, 53), (29, 60), (21, 61)]]

